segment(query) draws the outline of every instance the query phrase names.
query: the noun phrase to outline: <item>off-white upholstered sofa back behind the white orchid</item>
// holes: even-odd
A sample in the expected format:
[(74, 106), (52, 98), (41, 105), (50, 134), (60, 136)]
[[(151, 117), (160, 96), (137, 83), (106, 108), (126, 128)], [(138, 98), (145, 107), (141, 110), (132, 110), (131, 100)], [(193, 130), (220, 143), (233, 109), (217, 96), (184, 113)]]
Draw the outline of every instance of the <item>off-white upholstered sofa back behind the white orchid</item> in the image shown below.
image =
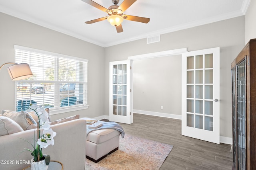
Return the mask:
[[(76, 119), (51, 125), (57, 133), (54, 145), (42, 150), (49, 154), (51, 160), (62, 162), (64, 170), (84, 170), (86, 158), (86, 120)], [(32, 149), (25, 139), (33, 142), (35, 129), (0, 136), (0, 170), (22, 170), (28, 166), (26, 160), (31, 160), (30, 152), (21, 152), (24, 148)], [(22, 138), (22, 139), (20, 139)]]

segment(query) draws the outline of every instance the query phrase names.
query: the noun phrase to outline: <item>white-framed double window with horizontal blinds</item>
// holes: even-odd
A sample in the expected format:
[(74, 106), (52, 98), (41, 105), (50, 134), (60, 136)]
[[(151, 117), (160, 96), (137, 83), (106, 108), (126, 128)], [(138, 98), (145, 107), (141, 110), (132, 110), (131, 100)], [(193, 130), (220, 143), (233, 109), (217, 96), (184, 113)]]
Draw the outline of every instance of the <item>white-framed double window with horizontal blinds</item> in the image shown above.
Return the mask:
[(16, 110), (30, 103), (51, 114), (88, 108), (87, 63), (76, 57), (14, 45), (16, 63), (28, 63), (33, 76), (16, 81)]

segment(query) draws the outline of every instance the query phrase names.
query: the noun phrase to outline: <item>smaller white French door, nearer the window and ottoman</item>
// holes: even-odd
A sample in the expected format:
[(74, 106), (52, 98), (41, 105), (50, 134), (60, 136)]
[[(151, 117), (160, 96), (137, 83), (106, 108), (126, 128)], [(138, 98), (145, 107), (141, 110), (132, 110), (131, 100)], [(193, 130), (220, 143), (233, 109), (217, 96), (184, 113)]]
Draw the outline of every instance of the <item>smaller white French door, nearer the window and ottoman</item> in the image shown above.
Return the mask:
[(133, 122), (131, 68), (131, 60), (110, 62), (110, 121)]

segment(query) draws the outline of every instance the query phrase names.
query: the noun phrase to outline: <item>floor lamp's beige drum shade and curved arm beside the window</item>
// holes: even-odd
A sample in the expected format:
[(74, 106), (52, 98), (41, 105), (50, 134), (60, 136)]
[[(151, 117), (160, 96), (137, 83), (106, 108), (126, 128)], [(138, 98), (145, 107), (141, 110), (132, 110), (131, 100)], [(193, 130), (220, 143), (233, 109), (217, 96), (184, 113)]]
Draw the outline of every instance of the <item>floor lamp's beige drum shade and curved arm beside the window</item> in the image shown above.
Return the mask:
[(26, 63), (4, 63), (0, 66), (0, 70), (6, 64), (12, 64), (7, 68), (12, 80), (22, 80), (33, 76), (30, 66)]

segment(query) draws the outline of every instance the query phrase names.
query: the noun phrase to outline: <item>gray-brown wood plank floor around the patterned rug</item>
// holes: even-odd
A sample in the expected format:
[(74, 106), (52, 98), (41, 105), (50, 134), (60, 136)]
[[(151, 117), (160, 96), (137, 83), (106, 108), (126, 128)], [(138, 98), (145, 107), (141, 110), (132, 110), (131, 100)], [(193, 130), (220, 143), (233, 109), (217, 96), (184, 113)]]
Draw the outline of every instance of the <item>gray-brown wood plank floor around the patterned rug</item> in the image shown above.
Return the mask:
[(231, 170), (231, 145), (181, 135), (181, 120), (134, 113), (133, 123), (119, 123), (125, 133), (173, 145), (160, 170)]

